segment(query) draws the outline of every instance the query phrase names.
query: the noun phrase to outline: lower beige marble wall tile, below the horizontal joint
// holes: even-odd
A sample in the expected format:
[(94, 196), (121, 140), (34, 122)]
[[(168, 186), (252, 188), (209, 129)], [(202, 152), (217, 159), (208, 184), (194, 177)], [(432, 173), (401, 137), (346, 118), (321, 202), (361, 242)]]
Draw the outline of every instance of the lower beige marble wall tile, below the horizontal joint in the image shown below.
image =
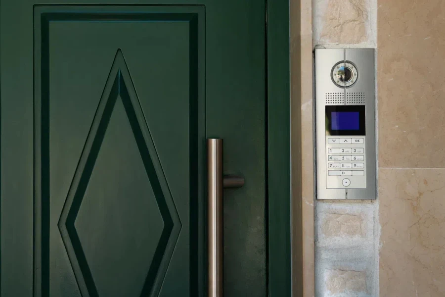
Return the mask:
[(380, 297), (445, 296), (445, 169), (380, 169)]

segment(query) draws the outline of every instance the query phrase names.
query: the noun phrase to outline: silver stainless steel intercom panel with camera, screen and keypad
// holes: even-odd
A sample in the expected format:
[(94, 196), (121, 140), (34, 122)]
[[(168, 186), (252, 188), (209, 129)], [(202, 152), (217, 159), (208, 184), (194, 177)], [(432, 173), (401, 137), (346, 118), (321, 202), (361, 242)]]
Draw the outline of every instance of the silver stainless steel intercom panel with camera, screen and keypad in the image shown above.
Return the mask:
[(374, 49), (315, 49), (317, 199), (375, 199)]

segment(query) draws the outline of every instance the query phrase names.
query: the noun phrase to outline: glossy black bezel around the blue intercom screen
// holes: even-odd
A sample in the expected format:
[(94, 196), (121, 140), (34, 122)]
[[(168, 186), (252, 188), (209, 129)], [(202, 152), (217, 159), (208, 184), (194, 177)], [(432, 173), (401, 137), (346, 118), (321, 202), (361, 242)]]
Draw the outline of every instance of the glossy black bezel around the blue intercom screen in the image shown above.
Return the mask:
[[(366, 135), (365, 105), (326, 105), (326, 135), (328, 136), (364, 136)], [(358, 112), (358, 130), (333, 130), (332, 112)]]

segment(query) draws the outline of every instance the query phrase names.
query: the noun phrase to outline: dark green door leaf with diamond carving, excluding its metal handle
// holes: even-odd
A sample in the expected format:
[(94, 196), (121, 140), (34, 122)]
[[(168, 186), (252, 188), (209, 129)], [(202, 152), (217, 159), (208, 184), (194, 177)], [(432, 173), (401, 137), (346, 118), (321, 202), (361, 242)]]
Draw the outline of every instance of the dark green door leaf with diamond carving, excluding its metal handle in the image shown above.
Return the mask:
[(265, 0), (100, 3), (0, 1), (1, 297), (206, 296), (214, 137), (224, 296), (267, 296)]

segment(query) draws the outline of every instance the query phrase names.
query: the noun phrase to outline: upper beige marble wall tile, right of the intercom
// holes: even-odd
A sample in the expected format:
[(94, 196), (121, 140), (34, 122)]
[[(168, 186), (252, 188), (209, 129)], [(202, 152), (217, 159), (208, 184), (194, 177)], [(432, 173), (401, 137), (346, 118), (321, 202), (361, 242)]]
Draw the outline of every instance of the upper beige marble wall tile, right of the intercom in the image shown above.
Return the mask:
[(381, 167), (445, 167), (445, 1), (379, 0)]

